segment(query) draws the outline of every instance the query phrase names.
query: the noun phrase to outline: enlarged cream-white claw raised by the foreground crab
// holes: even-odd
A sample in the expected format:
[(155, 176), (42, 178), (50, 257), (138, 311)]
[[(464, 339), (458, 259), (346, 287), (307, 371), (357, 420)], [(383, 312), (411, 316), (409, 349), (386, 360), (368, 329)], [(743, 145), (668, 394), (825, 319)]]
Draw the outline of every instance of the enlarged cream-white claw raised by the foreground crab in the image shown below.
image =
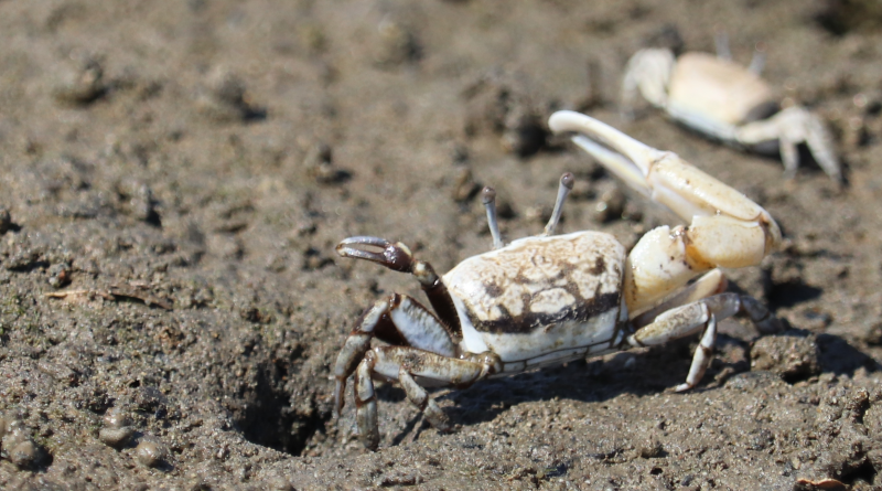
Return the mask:
[(716, 267), (756, 265), (778, 247), (781, 231), (768, 212), (676, 153), (656, 150), (579, 113), (555, 113), (548, 125), (555, 132), (585, 135), (573, 140), (628, 185), (691, 222), (689, 227), (650, 231), (628, 255), (628, 311), (639, 313)]

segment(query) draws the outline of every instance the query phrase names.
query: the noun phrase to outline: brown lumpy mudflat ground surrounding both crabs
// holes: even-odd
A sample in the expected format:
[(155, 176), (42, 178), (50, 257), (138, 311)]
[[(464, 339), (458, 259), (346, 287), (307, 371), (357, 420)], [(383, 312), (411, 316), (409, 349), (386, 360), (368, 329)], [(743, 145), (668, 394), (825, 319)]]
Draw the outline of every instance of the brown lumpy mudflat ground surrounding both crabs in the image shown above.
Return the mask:
[[(647, 43), (767, 45), (782, 98), (829, 121), (811, 163), (741, 153), (616, 100)], [(872, 1), (0, 1), (0, 489), (878, 489), (882, 20)], [(344, 260), (404, 241), (439, 271), (560, 230), (626, 246), (676, 223), (563, 140), (576, 108), (765, 206), (786, 246), (730, 271), (790, 330), (696, 340), (437, 392), (379, 388), (380, 450), (330, 366), (412, 278)], [(606, 199), (604, 205), (602, 199)], [(837, 482), (842, 483), (841, 487)], [(832, 488), (829, 488), (832, 487)], [(839, 488), (837, 488), (839, 487)]]

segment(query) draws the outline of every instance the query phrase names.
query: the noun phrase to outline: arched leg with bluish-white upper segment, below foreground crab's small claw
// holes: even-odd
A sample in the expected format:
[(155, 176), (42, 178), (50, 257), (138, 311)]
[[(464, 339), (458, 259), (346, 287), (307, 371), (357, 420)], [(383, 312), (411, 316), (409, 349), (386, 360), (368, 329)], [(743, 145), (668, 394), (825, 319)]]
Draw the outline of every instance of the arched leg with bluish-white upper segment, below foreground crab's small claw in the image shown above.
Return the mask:
[(392, 344), (413, 346), (443, 356), (456, 354), (456, 345), (450, 332), (420, 302), (398, 293), (377, 301), (355, 323), (337, 355), (334, 365), (334, 408), (337, 415), (343, 409), (346, 378), (365, 357), (370, 349), (370, 340), (375, 337)]

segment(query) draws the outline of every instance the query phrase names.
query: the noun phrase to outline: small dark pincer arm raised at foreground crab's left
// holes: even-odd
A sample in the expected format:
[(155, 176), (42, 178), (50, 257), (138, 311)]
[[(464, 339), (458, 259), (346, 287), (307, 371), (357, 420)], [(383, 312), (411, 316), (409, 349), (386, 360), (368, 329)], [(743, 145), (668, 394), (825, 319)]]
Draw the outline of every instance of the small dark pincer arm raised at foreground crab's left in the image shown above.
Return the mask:
[(413, 254), (408, 246), (400, 242), (392, 244), (385, 238), (358, 236), (341, 241), (337, 244), (337, 254), (343, 257), (366, 259), (386, 266), (394, 271), (413, 275), (420, 282), (422, 291), (429, 297), (432, 309), (449, 329), (451, 335), (462, 335), (460, 318), (456, 314), (456, 308), (453, 306), (453, 299), (450, 297), (448, 287), (434, 273), (432, 265), (413, 258)]

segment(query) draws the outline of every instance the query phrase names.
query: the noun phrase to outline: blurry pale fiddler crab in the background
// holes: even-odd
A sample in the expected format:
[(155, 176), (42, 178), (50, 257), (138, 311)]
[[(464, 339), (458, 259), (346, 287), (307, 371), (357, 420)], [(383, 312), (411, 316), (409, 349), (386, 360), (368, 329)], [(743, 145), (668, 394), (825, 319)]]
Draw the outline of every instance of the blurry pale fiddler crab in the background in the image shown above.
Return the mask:
[(762, 47), (747, 67), (732, 62), (724, 35), (717, 38), (717, 56), (692, 52), (675, 57), (668, 49), (641, 50), (625, 70), (622, 106), (630, 117), (639, 92), (675, 121), (710, 138), (757, 153), (777, 151), (787, 179), (796, 175), (797, 146), (805, 142), (821, 169), (841, 183), (829, 131), (802, 106), (781, 108), (760, 77), (764, 64)]

